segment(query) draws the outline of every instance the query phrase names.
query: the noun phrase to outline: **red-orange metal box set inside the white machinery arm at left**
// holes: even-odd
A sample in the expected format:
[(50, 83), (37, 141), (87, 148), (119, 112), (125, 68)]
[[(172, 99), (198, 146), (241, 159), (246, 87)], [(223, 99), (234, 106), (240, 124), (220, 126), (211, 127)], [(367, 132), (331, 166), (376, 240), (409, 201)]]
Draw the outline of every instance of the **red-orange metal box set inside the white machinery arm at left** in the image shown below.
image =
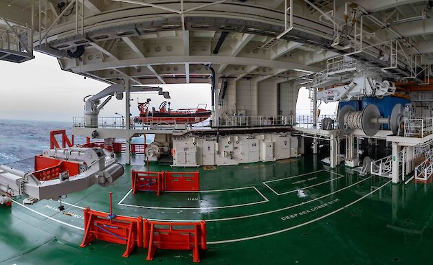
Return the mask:
[(80, 173), (80, 165), (75, 162), (61, 161), (51, 157), (35, 156), (34, 172), (32, 174), (39, 181), (49, 181), (58, 178), (61, 172), (69, 172), (69, 176), (75, 176)]

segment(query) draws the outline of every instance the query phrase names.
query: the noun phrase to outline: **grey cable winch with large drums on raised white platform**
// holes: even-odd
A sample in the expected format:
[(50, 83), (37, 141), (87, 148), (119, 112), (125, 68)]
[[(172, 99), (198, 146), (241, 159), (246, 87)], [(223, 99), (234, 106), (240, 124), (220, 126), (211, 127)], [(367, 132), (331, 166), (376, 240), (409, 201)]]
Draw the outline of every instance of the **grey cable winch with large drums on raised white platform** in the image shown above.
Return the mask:
[(381, 117), (379, 108), (369, 104), (363, 111), (355, 111), (351, 105), (346, 105), (340, 110), (338, 124), (345, 135), (350, 135), (353, 130), (364, 131), (367, 136), (374, 136), (379, 131), (381, 124), (388, 124), (393, 134), (398, 134), (403, 120), (403, 105), (396, 104), (392, 108), (391, 116)]

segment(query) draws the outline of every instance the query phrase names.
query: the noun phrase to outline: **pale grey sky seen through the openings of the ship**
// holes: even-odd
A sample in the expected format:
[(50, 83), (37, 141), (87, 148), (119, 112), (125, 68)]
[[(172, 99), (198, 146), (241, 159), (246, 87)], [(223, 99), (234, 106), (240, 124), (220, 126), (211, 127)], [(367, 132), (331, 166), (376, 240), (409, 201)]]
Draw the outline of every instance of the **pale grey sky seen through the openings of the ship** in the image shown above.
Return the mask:
[[(67, 121), (82, 116), (82, 98), (98, 93), (108, 84), (84, 79), (82, 76), (60, 70), (56, 58), (35, 53), (36, 58), (21, 64), (0, 61), (0, 119), (28, 119), (45, 121)], [(194, 108), (199, 103), (210, 108), (210, 84), (169, 84), (161, 85), (170, 92), (171, 107)], [(157, 108), (164, 101), (157, 93), (135, 93), (131, 95), (131, 113), (138, 114), (137, 98), (152, 99), (151, 106)], [(301, 91), (297, 109), (299, 115), (309, 113), (308, 92)], [(322, 114), (333, 113), (333, 106), (322, 106)], [(103, 117), (114, 117), (124, 113), (124, 101), (113, 98), (101, 111)]]

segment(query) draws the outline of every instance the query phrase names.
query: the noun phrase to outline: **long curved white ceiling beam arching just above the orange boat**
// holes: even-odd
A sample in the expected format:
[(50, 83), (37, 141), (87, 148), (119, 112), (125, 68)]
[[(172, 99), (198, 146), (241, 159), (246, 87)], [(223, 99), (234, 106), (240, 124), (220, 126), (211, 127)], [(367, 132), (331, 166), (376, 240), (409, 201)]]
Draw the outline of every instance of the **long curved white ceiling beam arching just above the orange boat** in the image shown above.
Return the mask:
[(122, 68), (122, 67), (139, 67), (143, 65), (170, 65), (170, 64), (209, 64), (221, 65), (227, 63), (229, 65), (260, 65), (262, 67), (288, 69), (303, 72), (319, 72), (322, 67), (312, 67), (296, 62), (283, 62), (280, 60), (269, 60), (260, 58), (246, 58), (246, 57), (231, 57), (231, 56), (158, 56), (149, 58), (138, 58), (129, 60), (114, 60), (109, 62), (97, 62), (89, 65), (78, 65), (76, 67), (69, 67), (71, 71), (96, 71), (102, 69)]

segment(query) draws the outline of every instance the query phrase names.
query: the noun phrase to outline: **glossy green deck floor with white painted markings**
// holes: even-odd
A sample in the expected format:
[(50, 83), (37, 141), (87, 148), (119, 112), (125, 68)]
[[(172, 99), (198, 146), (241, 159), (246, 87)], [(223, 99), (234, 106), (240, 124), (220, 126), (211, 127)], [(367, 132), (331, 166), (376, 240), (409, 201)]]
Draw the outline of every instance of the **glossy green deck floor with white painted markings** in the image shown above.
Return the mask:
[[(58, 203), (0, 207), (0, 264), (190, 264), (190, 251), (146, 249), (122, 257), (124, 246), (83, 235), (82, 207), (155, 220), (206, 220), (208, 251), (201, 264), (433, 264), (431, 184), (393, 185), (340, 166), (330, 170), (307, 155), (274, 163), (200, 171), (203, 192), (133, 195), (131, 170), (114, 186), (93, 186)], [(135, 163), (140, 162), (140, 157)], [(151, 171), (191, 171), (150, 165)], [(298, 189), (307, 195), (298, 196)]]

